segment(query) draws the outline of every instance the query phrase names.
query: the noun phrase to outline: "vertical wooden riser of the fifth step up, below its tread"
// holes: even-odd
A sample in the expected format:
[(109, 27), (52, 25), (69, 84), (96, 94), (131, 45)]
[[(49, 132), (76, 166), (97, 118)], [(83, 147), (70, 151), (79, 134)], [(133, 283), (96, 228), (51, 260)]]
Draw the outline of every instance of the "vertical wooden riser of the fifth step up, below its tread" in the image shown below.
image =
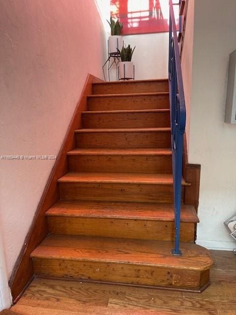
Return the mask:
[(78, 132), (78, 148), (170, 148), (170, 131)]

